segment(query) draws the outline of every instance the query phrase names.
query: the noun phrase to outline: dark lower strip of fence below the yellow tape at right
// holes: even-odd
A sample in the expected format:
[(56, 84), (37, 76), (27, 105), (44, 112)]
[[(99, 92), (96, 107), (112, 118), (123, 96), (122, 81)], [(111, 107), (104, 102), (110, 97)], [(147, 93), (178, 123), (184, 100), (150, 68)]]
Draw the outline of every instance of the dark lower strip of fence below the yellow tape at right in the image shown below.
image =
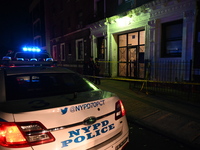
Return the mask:
[[(176, 82), (130, 82), (130, 89), (150, 95), (162, 96), (175, 101), (188, 101), (200, 104), (199, 83)], [(162, 99), (161, 99), (162, 100)]]

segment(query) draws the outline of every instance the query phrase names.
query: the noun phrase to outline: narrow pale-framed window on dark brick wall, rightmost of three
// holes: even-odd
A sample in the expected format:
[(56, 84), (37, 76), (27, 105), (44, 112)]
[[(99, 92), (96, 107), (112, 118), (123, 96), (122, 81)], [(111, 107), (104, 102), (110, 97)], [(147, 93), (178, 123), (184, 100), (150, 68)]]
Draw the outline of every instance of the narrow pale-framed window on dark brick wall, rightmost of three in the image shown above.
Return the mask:
[(76, 60), (84, 60), (84, 43), (83, 39), (76, 40)]

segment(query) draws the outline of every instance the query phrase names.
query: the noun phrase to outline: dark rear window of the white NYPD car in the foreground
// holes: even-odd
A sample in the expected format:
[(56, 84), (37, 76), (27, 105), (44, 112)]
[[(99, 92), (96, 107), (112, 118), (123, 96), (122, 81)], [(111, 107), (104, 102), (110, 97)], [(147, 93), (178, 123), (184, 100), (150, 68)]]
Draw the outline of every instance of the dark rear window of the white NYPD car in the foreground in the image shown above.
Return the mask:
[(14, 75), (6, 77), (6, 99), (55, 96), (94, 90), (74, 73)]

